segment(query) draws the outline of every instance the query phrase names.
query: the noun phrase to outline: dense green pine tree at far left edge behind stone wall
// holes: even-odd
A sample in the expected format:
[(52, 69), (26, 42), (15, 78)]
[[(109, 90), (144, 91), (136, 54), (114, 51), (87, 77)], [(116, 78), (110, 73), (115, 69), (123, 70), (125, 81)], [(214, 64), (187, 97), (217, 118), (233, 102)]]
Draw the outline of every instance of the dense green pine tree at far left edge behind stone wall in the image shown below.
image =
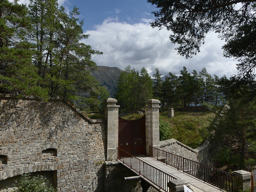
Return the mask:
[(39, 86), (42, 79), (32, 64), (30, 29), (25, 5), (0, 1), (0, 92), (46, 98), (47, 90)]

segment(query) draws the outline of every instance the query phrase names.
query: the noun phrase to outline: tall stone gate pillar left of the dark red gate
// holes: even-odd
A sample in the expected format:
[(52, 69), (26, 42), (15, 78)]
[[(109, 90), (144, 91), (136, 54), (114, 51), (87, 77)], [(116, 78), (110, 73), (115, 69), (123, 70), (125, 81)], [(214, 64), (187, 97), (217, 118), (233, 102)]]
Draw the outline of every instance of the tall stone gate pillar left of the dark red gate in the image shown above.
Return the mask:
[(107, 126), (107, 161), (116, 160), (116, 148), (118, 147), (118, 108), (117, 100), (108, 98), (105, 100), (105, 119)]

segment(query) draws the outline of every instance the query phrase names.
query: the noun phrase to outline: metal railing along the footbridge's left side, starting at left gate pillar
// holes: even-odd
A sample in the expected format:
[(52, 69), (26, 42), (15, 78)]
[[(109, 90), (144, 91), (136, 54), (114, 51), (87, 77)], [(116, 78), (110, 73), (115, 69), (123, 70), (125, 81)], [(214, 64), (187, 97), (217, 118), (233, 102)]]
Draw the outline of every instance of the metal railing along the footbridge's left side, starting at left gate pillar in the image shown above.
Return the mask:
[(165, 192), (169, 191), (168, 182), (177, 179), (120, 148), (117, 148), (117, 159)]

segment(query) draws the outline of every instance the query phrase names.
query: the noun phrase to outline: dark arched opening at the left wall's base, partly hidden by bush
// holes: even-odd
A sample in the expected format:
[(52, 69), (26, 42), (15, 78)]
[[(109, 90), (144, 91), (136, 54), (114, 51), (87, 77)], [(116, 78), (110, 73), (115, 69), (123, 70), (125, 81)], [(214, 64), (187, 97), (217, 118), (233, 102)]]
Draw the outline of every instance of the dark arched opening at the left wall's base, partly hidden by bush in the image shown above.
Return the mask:
[[(57, 171), (37, 171), (30, 173), (31, 178), (38, 175), (42, 175), (47, 182), (54, 186), (55, 189), (57, 188)], [(20, 177), (21, 175), (18, 175), (4, 180), (0, 180), (0, 192), (13, 191), (16, 181), (19, 182)]]

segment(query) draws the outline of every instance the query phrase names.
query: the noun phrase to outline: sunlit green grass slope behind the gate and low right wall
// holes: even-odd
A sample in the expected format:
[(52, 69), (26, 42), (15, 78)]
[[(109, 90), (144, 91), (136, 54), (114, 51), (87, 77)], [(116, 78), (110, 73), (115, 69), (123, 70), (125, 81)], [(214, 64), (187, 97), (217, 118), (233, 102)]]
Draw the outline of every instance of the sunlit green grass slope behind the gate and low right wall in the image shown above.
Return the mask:
[[(126, 120), (136, 120), (144, 115), (138, 112), (123, 114), (121, 118)], [(87, 115), (92, 119), (104, 119), (103, 113)], [(212, 112), (203, 110), (198, 113), (193, 110), (190, 112), (175, 110), (173, 118), (168, 118), (168, 112), (160, 112), (160, 140), (174, 138), (191, 148), (197, 148), (206, 140), (209, 134), (207, 127), (213, 118)]]

